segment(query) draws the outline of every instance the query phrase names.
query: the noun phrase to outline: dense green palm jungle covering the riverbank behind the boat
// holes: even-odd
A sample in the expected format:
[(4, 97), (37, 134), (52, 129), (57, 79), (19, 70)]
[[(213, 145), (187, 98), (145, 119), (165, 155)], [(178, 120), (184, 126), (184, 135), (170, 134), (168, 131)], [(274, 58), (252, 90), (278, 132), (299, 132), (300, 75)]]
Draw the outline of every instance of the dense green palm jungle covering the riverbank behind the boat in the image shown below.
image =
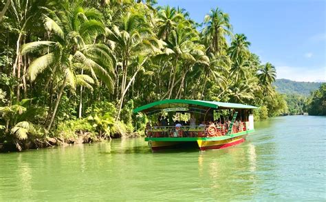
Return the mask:
[(1, 1), (0, 143), (142, 130), (134, 107), (162, 99), (287, 112), (276, 70), (219, 8), (197, 23), (155, 1)]

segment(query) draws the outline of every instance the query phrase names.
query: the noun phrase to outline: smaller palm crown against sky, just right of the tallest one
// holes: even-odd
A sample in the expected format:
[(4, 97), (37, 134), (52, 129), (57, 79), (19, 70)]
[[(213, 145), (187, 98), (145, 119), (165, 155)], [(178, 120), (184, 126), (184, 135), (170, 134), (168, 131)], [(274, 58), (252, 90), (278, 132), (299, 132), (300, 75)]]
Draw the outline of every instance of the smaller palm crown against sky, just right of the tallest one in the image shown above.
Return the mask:
[(231, 46), (228, 49), (230, 59), (236, 61), (239, 58), (247, 58), (250, 54), (249, 46), (250, 42), (247, 41), (247, 37), (244, 34), (235, 34), (235, 39), (232, 40)]

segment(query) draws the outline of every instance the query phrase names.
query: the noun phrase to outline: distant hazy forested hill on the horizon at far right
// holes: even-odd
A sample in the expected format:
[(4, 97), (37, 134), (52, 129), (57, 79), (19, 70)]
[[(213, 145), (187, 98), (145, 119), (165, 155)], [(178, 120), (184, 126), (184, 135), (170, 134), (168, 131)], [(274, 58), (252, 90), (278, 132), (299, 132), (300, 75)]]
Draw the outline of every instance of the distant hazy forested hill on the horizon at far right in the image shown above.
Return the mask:
[(321, 82), (291, 81), (289, 79), (276, 79), (274, 86), (277, 92), (285, 94), (301, 94), (309, 96), (311, 91), (320, 87)]

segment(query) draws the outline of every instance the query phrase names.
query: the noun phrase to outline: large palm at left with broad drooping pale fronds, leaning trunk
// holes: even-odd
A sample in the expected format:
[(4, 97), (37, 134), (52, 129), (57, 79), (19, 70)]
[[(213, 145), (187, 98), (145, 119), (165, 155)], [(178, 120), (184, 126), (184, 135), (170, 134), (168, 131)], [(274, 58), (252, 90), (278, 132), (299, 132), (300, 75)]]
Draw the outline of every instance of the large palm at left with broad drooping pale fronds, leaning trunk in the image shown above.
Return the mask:
[[(113, 83), (107, 68), (110, 68), (109, 48), (93, 42), (98, 34), (104, 34), (105, 28), (100, 21), (100, 14), (95, 9), (83, 8), (78, 3), (63, 3), (64, 13), (49, 12), (43, 16), (45, 29), (53, 34), (53, 41), (35, 41), (26, 43), (21, 48), (21, 54), (41, 52), (43, 56), (34, 59), (28, 68), (28, 75), (34, 81), (38, 74), (50, 69), (58, 76), (61, 88), (52, 110), (52, 116), (47, 126), (50, 130), (56, 110), (61, 100), (63, 90), (68, 84), (74, 90), (76, 85), (90, 87), (93, 79), (87, 75), (78, 74), (81, 70), (89, 70), (94, 79)], [(50, 81), (52, 77), (50, 76)], [(48, 82), (47, 82), (48, 83)]]

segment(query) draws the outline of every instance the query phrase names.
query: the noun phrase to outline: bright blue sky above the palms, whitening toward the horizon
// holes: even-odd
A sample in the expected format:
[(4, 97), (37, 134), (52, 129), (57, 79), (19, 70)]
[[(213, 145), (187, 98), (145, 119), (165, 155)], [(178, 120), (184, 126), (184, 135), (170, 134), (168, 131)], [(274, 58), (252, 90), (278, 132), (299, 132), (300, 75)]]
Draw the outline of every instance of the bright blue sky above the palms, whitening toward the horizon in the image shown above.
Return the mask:
[(185, 8), (198, 23), (210, 9), (230, 15), (233, 32), (276, 67), (277, 79), (326, 81), (326, 0), (158, 0)]

